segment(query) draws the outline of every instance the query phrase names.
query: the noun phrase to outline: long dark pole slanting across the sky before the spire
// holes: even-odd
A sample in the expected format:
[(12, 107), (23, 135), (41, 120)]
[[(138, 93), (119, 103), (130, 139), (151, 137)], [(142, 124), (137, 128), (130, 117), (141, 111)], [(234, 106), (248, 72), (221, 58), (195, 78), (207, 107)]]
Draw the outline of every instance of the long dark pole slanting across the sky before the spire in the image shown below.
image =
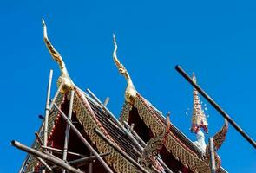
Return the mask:
[(240, 134), (253, 145), (254, 149), (256, 149), (256, 143), (253, 138), (250, 138), (245, 131), (243, 131), (239, 125), (235, 123), (233, 119), (229, 117), (229, 115), (199, 86), (197, 85), (190, 76), (180, 67), (175, 66), (175, 69), (192, 85), (194, 88), (205, 98), (207, 101), (218, 111), (220, 114), (231, 124), (233, 127), (240, 132)]

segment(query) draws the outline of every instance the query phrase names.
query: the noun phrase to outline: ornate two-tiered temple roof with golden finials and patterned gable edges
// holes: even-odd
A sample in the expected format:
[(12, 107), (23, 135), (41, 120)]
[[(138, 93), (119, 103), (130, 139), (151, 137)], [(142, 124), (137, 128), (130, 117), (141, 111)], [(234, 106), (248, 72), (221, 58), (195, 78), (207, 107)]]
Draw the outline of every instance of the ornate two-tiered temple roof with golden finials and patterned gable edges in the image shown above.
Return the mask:
[[(208, 152), (200, 151), (171, 123), (168, 116), (167, 118), (163, 116), (135, 90), (128, 71), (117, 58), (115, 36), (113, 58), (119, 72), (128, 83), (125, 91), (125, 103), (119, 120), (93, 93), (85, 93), (75, 86), (69, 77), (61, 55), (49, 42), (44, 22), (43, 29), (46, 46), (59, 64), (62, 74), (58, 79), (59, 88), (56, 96), (49, 106), (47, 146), (40, 143), (40, 139), (43, 140), (43, 124), (38, 131), (39, 138), (32, 148), (46, 152), (50, 157), (62, 159), (66, 126), (65, 120), (62, 119), (62, 112), (69, 113), (69, 104), (72, 100), (72, 123), (80, 131), (82, 137), (102, 156), (104, 162), (113, 172), (210, 172)], [(71, 99), (71, 91), (75, 93), (74, 99)], [(54, 104), (57, 108), (53, 106)], [(223, 143), (226, 131), (227, 123), (213, 137), (216, 150)], [(66, 162), (75, 169), (82, 170), (82, 172), (91, 170), (107, 172), (101, 162), (95, 159), (92, 159), (95, 160), (93, 164), (91, 164), (91, 160), (90, 162), (77, 162), (81, 157), (91, 156), (91, 151), (81, 143), (73, 131), (70, 131), (69, 134), (68, 151)], [(226, 172), (220, 167), (220, 158), (216, 153), (215, 160), (217, 161), (217, 170)], [(61, 171), (54, 163), (48, 164), (54, 172)], [(43, 163), (37, 157), (28, 155), (21, 172), (40, 172), (42, 168)]]

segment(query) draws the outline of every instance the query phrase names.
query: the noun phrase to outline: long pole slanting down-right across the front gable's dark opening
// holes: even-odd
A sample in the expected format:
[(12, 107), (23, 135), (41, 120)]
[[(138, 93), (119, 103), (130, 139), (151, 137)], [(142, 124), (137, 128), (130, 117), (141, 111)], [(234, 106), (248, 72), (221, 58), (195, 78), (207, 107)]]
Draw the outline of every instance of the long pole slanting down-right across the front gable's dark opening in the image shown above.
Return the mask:
[(78, 131), (76, 129), (75, 125), (73, 125), (73, 123), (67, 118), (65, 113), (62, 112), (62, 110), (56, 105), (56, 103), (54, 103), (54, 106), (56, 107), (58, 112), (61, 113), (62, 118), (70, 125), (70, 128), (75, 132), (77, 137), (81, 139), (82, 143), (85, 144), (88, 147), (89, 151), (91, 151), (95, 155), (95, 157), (97, 157), (99, 162), (102, 163), (102, 166), (108, 171), (108, 173), (113, 173), (113, 171), (108, 167), (108, 164), (105, 163), (105, 161), (102, 159), (102, 157), (94, 150), (94, 148), (87, 142), (87, 140), (85, 138), (83, 138), (80, 131)]

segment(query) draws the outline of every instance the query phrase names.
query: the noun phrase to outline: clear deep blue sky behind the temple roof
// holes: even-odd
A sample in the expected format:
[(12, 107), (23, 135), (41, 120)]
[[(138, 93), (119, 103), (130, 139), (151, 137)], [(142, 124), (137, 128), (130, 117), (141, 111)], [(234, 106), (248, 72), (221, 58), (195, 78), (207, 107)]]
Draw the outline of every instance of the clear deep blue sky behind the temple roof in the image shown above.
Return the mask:
[[(0, 3), (0, 172), (16, 172), (44, 113), (49, 69), (59, 69), (43, 43), (41, 18), (77, 86), (90, 88), (119, 115), (125, 80), (112, 61), (112, 33), (119, 59), (137, 90), (192, 140), (192, 87), (174, 65), (200, 86), (256, 138), (256, 3), (253, 1), (5, 1)], [(207, 104), (209, 136), (223, 119)], [(190, 111), (191, 113), (191, 111)], [(218, 151), (229, 172), (256, 172), (256, 152), (233, 127)]]

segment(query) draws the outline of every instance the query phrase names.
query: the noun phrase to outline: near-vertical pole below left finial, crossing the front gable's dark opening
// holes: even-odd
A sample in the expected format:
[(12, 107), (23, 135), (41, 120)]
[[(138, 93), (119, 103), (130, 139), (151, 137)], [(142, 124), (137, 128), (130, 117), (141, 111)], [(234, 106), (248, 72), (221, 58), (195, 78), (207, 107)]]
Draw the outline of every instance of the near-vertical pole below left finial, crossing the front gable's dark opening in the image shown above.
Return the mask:
[[(70, 102), (69, 102), (69, 117), (68, 119), (71, 121), (72, 119), (72, 111), (73, 111), (73, 101), (74, 101), (74, 90), (71, 90), (71, 96), (70, 96)], [(67, 123), (66, 131), (65, 131), (65, 139), (64, 139), (64, 147), (63, 147), (63, 161), (67, 162), (67, 156), (68, 156), (68, 146), (69, 146), (69, 131), (70, 131), (70, 125)], [(66, 170), (62, 170), (62, 173), (65, 173)]]

